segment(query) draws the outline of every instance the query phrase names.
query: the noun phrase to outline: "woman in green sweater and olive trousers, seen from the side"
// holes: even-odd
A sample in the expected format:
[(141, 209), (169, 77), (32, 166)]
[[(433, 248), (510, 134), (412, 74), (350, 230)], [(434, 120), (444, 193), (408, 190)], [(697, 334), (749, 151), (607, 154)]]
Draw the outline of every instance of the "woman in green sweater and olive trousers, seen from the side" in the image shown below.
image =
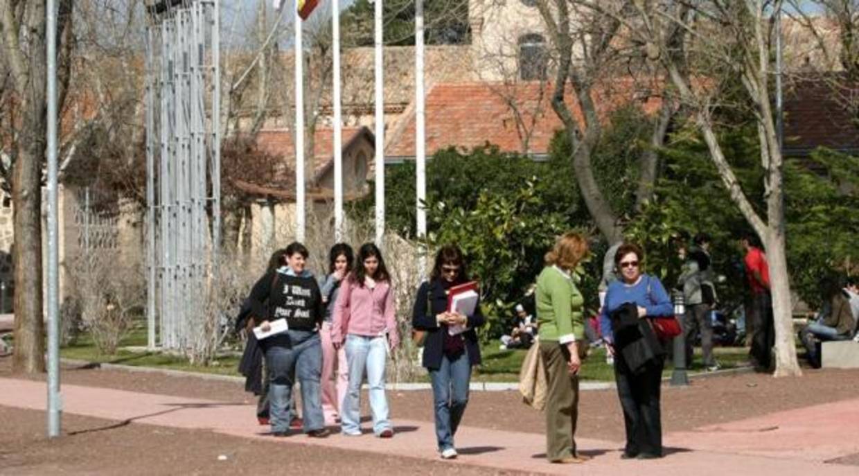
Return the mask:
[(584, 299), (572, 272), (588, 255), (588, 241), (565, 233), (545, 255), (537, 278), (539, 351), (545, 361), (545, 455), (553, 463), (581, 463), (576, 452), (580, 351), (584, 350)]

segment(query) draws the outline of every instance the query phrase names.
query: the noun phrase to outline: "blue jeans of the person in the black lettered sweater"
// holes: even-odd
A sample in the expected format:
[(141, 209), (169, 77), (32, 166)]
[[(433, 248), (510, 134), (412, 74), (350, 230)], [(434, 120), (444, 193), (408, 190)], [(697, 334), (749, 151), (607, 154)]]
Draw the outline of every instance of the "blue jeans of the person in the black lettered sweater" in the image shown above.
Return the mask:
[(322, 344), (317, 332), (287, 331), (289, 347), (270, 347), (265, 351), (269, 368), (269, 401), (271, 405), (271, 431), (289, 430), (292, 415), (292, 388), (295, 375), (302, 384), (302, 414), (305, 433), (325, 426), (322, 415), (320, 375), (322, 372)]

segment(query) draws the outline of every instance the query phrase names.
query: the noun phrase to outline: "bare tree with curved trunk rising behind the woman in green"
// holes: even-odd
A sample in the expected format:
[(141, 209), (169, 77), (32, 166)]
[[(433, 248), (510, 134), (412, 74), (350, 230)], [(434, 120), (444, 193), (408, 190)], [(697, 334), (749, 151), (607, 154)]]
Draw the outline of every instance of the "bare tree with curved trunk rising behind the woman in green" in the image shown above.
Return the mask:
[[(605, 2), (604, 2), (605, 3)], [(609, 242), (623, 238), (620, 223), (622, 211), (613, 210), (594, 176), (592, 157), (603, 126), (596, 97), (600, 88), (606, 88), (618, 76), (618, 71), (636, 72), (643, 68), (637, 58), (628, 55), (625, 18), (632, 13), (632, 2), (613, 1), (603, 5), (612, 12), (578, 0), (537, 0), (537, 7), (550, 35), (556, 68), (552, 82), (551, 107), (564, 124), (564, 132), (572, 146), (571, 162), (576, 182), (591, 217), (600, 233)], [(654, 121), (649, 150), (640, 163), (637, 207), (646, 202), (653, 192), (658, 170), (658, 150), (664, 143), (668, 125), (675, 111), (674, 102), (659, 82), (662, 108)], [(571, 101), (568, 95), (572, 96)], [(570, 107), (574, 102), (581, 117)]]

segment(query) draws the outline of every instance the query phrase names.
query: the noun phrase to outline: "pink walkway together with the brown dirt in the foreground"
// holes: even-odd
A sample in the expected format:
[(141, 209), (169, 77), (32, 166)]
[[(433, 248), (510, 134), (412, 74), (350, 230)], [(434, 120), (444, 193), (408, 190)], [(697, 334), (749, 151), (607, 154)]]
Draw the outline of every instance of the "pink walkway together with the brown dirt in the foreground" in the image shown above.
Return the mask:
[[(0, 472), (235, 473), (228, 467), (231, 461), (241, 471), (254, 473), (277, 469), (474, 473), (484, 467), (492, 473), (569, 474), (572, 469), (545, 461), (545, 436), (539, 433), (460, 426), (460, 458), (442, 462), (433, 450), (432, 424), (426, 421), (396, 418), (393, 440), (371, 434), (319, 440), (300, 433), (279, 439), (248, 421), (252, 405), (70, 383), (63, 389), (65, 435), (46, 442), (40, 412), (45, 393), (43, 382), (0, 378), (0, 406), (21, 409), (9, 410), (12, 415), (4, 418), (9, 426), (0, 431), (6, 451), (2, 467), (9, 469)], [(23, 424), (16, 420), (34, 411), (35, 419)], [(80, 422), (85, 426), (76, 428)], [(859, 452), (853, 438), (857, 424), (859, 399), (852, 398), (667, 432), (667, 457), (659, 461), (624, 461), (617, 442), (588, 436), (578, 436), (577, 441), (582, 454), (594, 457), (587, 473), (595, 476), (852, 476), (855, 468), (829, 461), (846, 462)]]

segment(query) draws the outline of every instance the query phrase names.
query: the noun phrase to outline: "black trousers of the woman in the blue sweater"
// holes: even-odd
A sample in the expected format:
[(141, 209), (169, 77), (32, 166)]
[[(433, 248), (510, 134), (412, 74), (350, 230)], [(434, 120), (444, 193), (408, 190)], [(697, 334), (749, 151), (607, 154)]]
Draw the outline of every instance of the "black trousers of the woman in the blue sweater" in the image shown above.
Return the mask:
[(624, 410), (627, 455), (662, 455), (660, 384), (665, 360), (657, 357), (633, 374), (621, 352), (614, 356), (614, 378)]

